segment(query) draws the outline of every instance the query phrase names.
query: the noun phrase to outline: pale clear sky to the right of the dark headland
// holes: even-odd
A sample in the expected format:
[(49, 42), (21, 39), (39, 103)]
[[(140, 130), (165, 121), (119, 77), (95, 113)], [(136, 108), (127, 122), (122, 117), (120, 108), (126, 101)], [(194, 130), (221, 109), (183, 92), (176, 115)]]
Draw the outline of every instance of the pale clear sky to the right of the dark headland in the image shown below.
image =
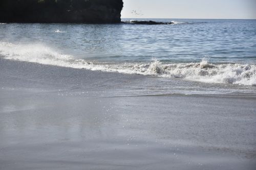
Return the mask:
[(256, 0), (123, 0), (122, 18), (256, 19)]

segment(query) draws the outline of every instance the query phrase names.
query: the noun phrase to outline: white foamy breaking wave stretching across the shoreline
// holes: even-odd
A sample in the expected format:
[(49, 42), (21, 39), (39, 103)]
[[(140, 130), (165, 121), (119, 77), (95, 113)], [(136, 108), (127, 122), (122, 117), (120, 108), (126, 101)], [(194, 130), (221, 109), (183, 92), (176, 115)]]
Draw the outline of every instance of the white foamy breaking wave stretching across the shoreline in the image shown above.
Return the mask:
[(256, 85), (256, 65), (211, 64), (206, 58), (197, 63), (162, 63), (157, 59), (148, 63), (92, 62), (58, 53), (41, 44), (13, 44), (9, 42), (0, 42), (0, 56), (11, 60), (123, 74), (181, 78), (205, 83)]

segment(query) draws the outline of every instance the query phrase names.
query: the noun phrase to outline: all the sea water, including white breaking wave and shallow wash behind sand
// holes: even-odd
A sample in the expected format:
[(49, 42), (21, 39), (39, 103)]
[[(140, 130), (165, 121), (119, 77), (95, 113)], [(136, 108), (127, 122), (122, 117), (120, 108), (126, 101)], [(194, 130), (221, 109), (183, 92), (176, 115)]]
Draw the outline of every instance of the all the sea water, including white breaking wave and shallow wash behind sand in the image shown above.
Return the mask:
[(256, 20), (137, 20), (174, 23), (2, 23), (0, 56), (154, 77), (164, 93), (255, 92)]

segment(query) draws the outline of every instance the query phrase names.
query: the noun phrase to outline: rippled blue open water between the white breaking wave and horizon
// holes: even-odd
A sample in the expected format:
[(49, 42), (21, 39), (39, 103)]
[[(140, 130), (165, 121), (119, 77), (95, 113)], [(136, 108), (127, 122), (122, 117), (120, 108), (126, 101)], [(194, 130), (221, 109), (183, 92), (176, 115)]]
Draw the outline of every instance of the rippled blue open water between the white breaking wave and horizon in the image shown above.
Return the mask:
[[(122, 19), (131, 20), (131, 19)], [(100, 61), (256, 62), (256, 20), (153, 19), (175, 25), (0, 25), (0, 39), (42, 43), (76, 58)], [(56, 30), (59, 32), (56, 33)]]

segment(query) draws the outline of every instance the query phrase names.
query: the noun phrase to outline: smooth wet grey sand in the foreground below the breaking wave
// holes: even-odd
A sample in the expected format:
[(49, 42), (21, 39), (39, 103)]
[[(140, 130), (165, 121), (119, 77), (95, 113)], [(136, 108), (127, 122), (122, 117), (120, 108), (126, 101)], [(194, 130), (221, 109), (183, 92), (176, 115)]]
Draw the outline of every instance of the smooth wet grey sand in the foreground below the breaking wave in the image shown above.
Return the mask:
[(254, 95), (158, 95), (137, 90), (152, 77), (4, 59), (0, 71), (0, 169), (256, 167)]

